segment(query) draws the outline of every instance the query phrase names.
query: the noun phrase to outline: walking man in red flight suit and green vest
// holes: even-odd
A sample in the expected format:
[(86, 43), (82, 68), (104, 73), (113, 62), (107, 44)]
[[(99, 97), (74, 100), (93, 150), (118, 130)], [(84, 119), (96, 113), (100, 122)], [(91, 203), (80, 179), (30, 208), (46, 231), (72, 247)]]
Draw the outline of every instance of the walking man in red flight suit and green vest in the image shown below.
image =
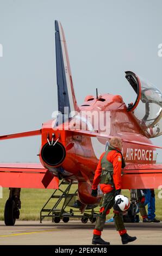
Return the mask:
[[(101, 231), (104, 228), (106, 215), (109, 214), (110, 209), (115, 203), (115, 196), (121, 194), (121, 168), (126, 166), (121, 150), (121, 138), (111, 138), (108, 150), (101, 155), (95, 172), (91, 195), (97, 197), (97, 187), (99, 183), (100, 188), (104, 193), (102, 206), (99, 210), (100, 213), (97, 217), (92, 239), (92, 244), (95, 245), (110, 244), (101, 238)], [(136, 240), (135, 236), (132, 237), (127, 234), (127, 230), (123, 223), (122, 213), (116, 212), (114, 214), (114, 221), (116, 230), (119, 231), (123, 244)]]

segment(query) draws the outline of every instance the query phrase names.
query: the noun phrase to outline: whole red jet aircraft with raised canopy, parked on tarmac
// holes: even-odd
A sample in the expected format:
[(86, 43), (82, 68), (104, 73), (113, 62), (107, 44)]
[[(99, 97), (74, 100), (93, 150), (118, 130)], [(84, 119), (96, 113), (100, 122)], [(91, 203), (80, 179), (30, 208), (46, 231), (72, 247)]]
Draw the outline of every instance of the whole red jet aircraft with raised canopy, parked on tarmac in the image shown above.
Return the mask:
[[(12, 139), (40, 135), (40, 163), (0, 164), (0, 185), (11, 188), (10, 198), (17, 195), (19, 208), (20, 188), (58, 188), (60, 179), (78, 181), (78, 198), (82, 204), (98, 204), (101, 197), (91, 196), (92, 180), (109, 139), (117, 136), (122, 138), (122, 153), (127, 163), (122, 188), (158, 188), (162, 184), (162, 164), (155, 164), (156, 148), (161, 147), (153, 145), (150, 138), (162, 133), (160, 90), (126, 71), (126, 78), (136, 93), (135, 102), (126, 106), (120, 95), (96, 93), (86, 96), (83, 105), (78, 106), (65, 35), (58, 21), (55, 21), (55, 50), (58, 113), (43, 123), (40, 130), (0, 136), (0, 139)], [(11, 204), (13, 201), (5, 208), (6, 216), (10, 214)]]

